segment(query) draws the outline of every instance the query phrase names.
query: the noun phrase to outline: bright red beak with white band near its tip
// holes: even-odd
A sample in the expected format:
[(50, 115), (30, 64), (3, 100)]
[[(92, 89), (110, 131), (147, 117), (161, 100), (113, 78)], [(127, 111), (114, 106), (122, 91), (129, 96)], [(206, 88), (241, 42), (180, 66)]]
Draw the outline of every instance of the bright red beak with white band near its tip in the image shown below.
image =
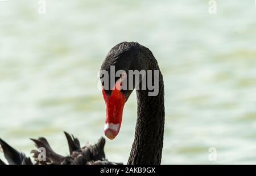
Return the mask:
[(120, 84), (120, 82), (115, 83), (115, 88), (110, 95), (106, 95), (104, 89), (102, 89), (106, 104), (104, 133), (109, 139), (114, 139), (118, 135), (122, 123), (123, 106), (125, 106), (126, 97), (120, 89), (117, 89), (117, 86), (120, 86)]

